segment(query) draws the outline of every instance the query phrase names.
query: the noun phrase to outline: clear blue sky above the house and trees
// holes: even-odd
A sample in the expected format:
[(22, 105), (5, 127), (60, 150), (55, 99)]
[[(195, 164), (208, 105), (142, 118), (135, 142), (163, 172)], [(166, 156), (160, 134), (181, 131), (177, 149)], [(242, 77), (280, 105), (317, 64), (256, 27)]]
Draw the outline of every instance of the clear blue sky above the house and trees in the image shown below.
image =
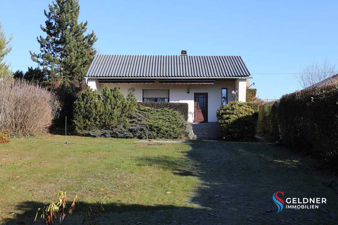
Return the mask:
[[(5, 58), (13, 71), (36, 64), (29, 51), (39, 52), (49, 3), (1, 3), (0, 22), (14, 36)], [(337, 7), (338, 1), (80, 0), (79, 20), (88, 20), (100, 54), (240, 55), (258, 96), (273, 99), (300, 89), (294, 73), (312, 60), (337, 64)]]

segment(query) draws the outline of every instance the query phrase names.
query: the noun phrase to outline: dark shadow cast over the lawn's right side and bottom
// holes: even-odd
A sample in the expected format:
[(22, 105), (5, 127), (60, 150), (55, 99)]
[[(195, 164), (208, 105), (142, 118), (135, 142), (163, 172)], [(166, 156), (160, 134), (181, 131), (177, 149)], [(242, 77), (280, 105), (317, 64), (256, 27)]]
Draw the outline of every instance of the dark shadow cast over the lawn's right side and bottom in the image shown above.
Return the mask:
[[(322, 184), (335, 177), (291, 150), (269, 143), (194, 141), (189, 145), (183, 158), (138, 158), (138, 165), (197, 177), (200, 186), (189, 202), (198, 207), (103, 204), (103, 224), (336, 224), (337, 191)], [(317, 210), (285, 209), (276, 215), (271, 199), (276, 191), (284, 191), (285, 198), (326, 197), (328, 203)], [(42, 205), (34, 201), (18, 205), (24, 211), (18, 221), (29, 224)], [(80, 203), (78, 210), (83, 213), (87, 207)]]

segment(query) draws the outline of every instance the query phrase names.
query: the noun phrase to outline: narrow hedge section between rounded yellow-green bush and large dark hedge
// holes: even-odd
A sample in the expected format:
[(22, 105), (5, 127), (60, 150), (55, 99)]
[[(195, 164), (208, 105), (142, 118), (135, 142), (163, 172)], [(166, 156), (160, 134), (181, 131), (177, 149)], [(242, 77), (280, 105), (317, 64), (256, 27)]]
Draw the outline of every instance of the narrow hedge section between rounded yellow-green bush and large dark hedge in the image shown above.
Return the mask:
[(269, 140), (279, 140), (280, 132), (276, 117), (277, 102), (259, 107), (257, 133)]

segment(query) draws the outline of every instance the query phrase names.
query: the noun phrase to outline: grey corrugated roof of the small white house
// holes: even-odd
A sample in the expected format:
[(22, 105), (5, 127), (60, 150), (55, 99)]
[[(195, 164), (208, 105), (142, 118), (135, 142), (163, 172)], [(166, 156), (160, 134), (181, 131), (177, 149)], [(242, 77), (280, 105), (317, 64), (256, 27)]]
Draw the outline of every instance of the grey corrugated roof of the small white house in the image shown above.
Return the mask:
[(240, 56), (96, 55), (86, 77), (248, 77)]

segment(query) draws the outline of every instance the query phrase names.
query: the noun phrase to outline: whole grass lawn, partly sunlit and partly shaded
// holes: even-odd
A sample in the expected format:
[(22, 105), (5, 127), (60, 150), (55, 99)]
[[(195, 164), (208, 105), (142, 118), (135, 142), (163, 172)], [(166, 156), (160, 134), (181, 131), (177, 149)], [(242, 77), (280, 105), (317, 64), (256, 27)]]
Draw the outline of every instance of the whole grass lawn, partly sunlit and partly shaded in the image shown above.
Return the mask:
[[(70, 136), (64, 145), (54, 135), (0, 145), (0, 223), (31, 224), (59, 190), (69, 200), (83, 196), (67, 224), (80, 224), (79, 212), (95, 201), (105, 209), (102, 224), (338, 223), (336, 177), (288, 149), (135, 141)], [(284, 191), (284, 201), (324, 197), (327, 204), (276, 215), (276, 191)]]

